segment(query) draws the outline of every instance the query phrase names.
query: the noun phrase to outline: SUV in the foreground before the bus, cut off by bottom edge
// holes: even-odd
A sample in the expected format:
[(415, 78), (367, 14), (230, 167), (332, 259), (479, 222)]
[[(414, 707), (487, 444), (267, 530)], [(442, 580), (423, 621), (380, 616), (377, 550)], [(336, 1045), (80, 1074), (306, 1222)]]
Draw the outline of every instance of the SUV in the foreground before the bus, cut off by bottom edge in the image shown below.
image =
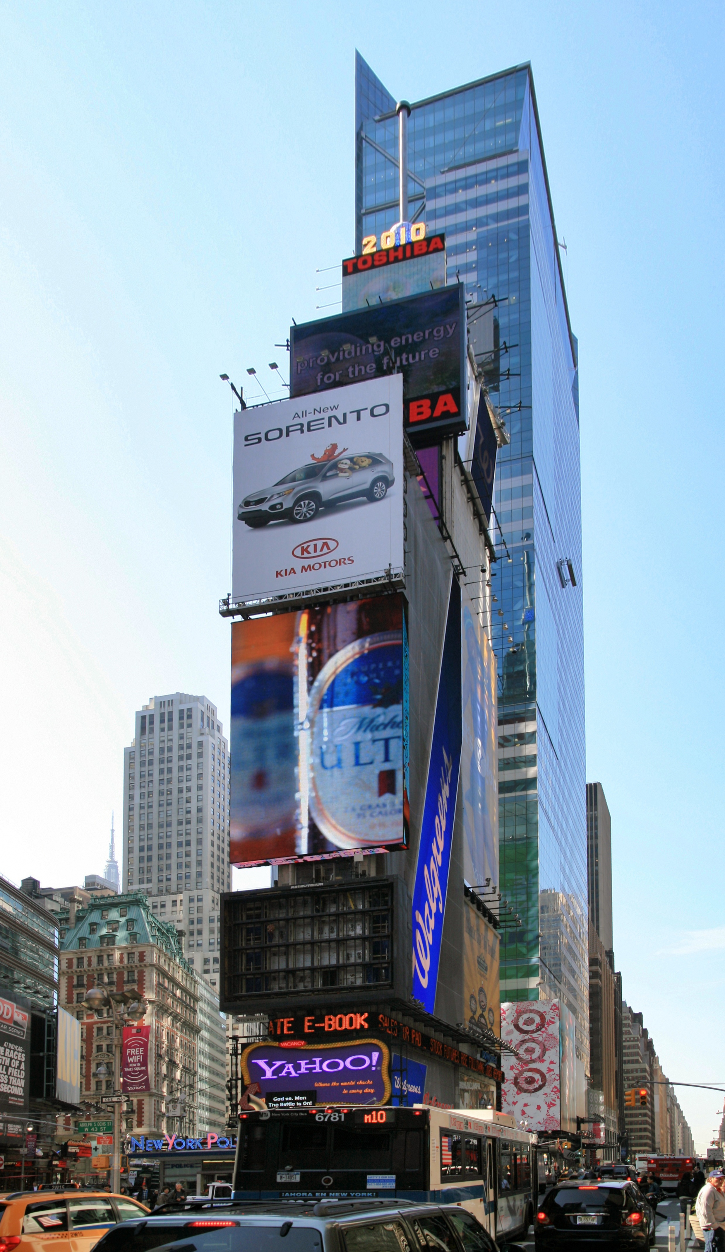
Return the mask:
[[(284, 1242), (282, 1242), (284, 1241)], [(504, 1252), (459, 1204), (186, 1203), (115, 1226), (95, 1252)], [(516, 1243), (505, 1252), (524, 1252)]]

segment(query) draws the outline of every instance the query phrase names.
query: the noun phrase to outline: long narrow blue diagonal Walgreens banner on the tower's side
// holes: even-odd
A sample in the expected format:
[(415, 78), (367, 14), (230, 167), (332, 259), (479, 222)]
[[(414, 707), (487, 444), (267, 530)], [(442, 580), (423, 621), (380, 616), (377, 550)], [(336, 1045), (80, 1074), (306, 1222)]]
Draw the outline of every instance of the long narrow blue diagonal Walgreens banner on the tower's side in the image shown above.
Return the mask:
[(461, 760), (461, 593), (451, 580), (412, 889), (412, 995), (435, 1008)]

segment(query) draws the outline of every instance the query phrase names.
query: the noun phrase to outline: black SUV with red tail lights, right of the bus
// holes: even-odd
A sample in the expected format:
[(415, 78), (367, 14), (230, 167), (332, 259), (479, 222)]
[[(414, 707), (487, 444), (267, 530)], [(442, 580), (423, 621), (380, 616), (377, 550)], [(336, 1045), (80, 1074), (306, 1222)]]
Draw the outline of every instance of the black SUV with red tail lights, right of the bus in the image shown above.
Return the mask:
[(648, 1248), (655, 1242), (655, 1213), (629, 1178), (562, 1182), (539, 1204), (534, 1239), (536, 1252), (559, 1252), (568, 1243)]

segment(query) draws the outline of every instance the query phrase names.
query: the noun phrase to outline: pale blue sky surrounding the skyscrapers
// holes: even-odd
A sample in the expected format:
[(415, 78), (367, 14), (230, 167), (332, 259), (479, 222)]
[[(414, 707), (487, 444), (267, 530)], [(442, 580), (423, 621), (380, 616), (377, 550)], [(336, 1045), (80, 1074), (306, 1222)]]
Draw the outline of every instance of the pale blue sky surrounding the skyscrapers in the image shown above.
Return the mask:
[[(101, 869), (132, 710), (228, 709), (231, 403), (352, 250), (354, 50), (420, 99), (531, 60), (580, 344), (588, 777), (672, 1079), (725, 1079), (724, 13), (0, 9), (2, 871)], [(270, 389), (271, 388), (271, 389)], [(252, 392), (254, 388), (250, 388)], [(725, 1083), (722, 1083), (725, 1085)], [(705, 1147), (721, 1097), (681, 1102)]]

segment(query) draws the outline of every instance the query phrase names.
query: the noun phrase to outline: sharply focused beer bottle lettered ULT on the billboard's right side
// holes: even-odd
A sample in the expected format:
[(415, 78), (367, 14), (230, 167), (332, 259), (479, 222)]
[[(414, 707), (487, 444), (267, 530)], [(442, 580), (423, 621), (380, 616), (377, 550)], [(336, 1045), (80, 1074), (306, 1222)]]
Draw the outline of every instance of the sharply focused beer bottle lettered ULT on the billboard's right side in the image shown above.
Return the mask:
[(402, 841), (402, 625), (399, 596), (301, 615), (310, 853)]

